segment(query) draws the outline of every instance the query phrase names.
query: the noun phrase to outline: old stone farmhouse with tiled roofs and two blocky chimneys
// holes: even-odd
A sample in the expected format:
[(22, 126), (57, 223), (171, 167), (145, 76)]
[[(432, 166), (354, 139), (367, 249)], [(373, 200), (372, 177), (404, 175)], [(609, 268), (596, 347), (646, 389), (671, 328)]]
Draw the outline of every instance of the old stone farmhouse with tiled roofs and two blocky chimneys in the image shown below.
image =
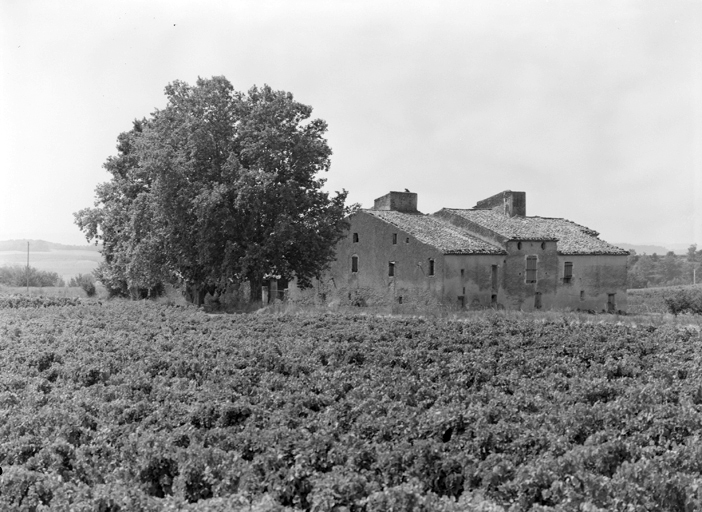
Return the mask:
[(416, 193), (390, 192), (348, 220), (316, 286), (327, 302), (626, 311), (628, 252), (569, 220), (527, 216), (524, 192), (431, 215)]

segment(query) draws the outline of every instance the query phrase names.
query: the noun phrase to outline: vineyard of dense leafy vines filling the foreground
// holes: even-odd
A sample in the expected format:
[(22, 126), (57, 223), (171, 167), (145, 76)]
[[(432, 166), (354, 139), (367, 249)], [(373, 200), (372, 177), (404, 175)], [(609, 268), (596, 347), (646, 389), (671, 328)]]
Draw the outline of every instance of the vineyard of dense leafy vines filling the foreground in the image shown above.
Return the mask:
[(2, 510), (702, 510), (695, 327), (8, 304)]

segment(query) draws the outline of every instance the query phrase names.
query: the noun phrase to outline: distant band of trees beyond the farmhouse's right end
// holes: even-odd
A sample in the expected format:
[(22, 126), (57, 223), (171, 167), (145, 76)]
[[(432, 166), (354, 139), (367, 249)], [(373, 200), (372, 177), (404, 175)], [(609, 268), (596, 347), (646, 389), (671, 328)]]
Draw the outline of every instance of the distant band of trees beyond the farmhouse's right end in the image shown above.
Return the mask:
[(691, 245), (684, 256), (672, 251), (665, 256), (636, 254), (631, 251), (628, 261), (629, 288), (692, 284), (696, 269), (697, 283), (702, 282), (702, 250)]

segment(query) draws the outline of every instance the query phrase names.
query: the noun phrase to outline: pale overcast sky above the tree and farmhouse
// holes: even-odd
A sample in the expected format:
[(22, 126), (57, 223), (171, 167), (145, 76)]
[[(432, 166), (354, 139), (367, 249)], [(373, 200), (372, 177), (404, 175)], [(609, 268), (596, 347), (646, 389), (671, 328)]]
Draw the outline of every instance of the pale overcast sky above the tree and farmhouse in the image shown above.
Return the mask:
[(0, 240), (85, 243), (173, 80), (290, 91), (329, 190), (425, 213), (523, 190), (610, 242), (702, 246), (702, 2), (0, 0)]

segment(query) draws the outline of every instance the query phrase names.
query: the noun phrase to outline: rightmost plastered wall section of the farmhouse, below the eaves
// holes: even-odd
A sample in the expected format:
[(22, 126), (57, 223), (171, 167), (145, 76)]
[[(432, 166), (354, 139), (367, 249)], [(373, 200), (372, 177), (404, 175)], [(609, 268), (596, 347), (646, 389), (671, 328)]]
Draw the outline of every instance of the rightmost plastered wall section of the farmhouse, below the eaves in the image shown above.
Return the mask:
[[(570, 283), (563, 282), (566, 262), (573, 263)], [(601, 313), (607, 311), (608, 295), (615, 294), (615, 311), (627, 310), (626, 256), (559, 255), (558, 265), (558, 303), (562, 308)]]

